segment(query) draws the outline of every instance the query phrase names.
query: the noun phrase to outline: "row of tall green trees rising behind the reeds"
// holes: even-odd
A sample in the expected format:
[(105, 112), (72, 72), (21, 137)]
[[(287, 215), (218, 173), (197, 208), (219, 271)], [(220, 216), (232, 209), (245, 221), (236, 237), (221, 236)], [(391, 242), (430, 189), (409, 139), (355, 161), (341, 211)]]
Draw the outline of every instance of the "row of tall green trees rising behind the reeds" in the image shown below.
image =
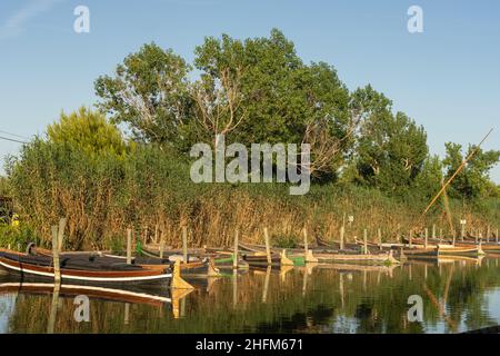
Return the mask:
[[(136, 140), (188, 152), (197, 142), (310, 144), (317, 180), (343, 180), (404, 195), (439, 188), (462, 157), (447, 146), (429, 156), (427, 132), (371, 86), (349, 91), (326, 62), (306, 63), (292, 41), (269, 37), (207, 37), (188, 63), (171, 49), (144, 44), (96, 81), (99, 108), (127, 123)], [(498, 154), (478, 155), (453, 182), (454, 195), (478, 197)], [(494, 189), (493, 189), (494, 188)], [(489, 190), (496, 190), (489, 182)]]

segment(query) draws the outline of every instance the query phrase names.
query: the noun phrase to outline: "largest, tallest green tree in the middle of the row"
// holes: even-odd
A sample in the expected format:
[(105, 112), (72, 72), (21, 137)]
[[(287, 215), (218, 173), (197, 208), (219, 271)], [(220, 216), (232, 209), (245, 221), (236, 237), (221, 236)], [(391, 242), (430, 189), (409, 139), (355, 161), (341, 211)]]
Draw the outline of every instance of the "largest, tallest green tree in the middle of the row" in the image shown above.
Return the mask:
[[(198, 123), (206, 136), (251, 142), (308, 142), (311, 170), (334, 172), (351, 140), (349, 91), (336, 70), (306, 65), (282, 32), (244, 41), (224, 34), (196, 49)], [(217, 108), (217, 110), (213, 110)]]

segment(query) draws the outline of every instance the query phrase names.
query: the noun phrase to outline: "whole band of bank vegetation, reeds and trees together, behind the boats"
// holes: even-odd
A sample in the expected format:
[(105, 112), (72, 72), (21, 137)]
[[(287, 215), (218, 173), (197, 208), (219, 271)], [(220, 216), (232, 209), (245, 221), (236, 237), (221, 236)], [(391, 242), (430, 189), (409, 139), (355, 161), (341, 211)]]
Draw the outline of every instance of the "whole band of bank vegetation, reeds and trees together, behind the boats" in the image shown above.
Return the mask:
[[(237, 228), (248, 241), (261, 240), (263, 227), (274, 241), (298, 241), (303, 226), (334, 239), (344, 214), (354, 216), (350, 238), (381, 228), (391, 240), (431, 224), (451, 234), (461, 218), (483, 231), (498, 226), (500, 189), (489, 171), (500, 151), (479, 150), (447, 190), (453, 228), (441, 202), (422, 221), (427, 202), (473, 146), (449, 142), (444, 159), (430, 155), (424, 128), (393, 112), (389, 98), (371, 86), (348, 90), (333, 67), (304, 63), (278, 30), (268, 38), (207, 38), (194, 53), (191, 66), (144, 44), (97, 79), (96, 109), (62, 113), (9, 158), (2, 189), (33, 231), (19, 235), (21, 243), (37, 236), (48, 244), (62, 216), (71, 249), (120, 245), (127, 227), (142, 237), (162, 231), (172, 246), (186, 225), (192, 246), (229, 245)], [(193, 184), (189, 150), (213, 145), (216, 135), (228, 145), (310, 144), (310, 192)]]

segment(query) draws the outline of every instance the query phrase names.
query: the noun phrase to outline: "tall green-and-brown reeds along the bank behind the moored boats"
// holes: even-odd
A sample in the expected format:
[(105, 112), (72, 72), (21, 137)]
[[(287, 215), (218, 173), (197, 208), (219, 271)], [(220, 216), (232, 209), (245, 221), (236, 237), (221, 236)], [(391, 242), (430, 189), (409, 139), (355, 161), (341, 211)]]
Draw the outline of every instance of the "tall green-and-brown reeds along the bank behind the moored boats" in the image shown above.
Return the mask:
[[(196, 185), (189, 167), (174, 151), (154, 146), (138, 146), (126, 158), (107, 152), (89, 157), (36, 140), (11, 161), (8, 172), (21, 220), (33, 228), (33, 237), (50, 245), (50, 226), (67, 217), (68, 249), (117, 249), (129, 227), (141, 238), (151, 238), (158, 228), (173, 247), (180, 246), (183, 226), (190, 246), (229, 246), (236, 229), (241, 240), (261, 243), (263, 227), (276, 244), (300, 241), (303, 227), (311, 240), (331, 240), (338, 239), (344, 214), (354, 216), (350, 239), (362, 236), (364, 228), (374, 239), (381, 228), (384, 240), (394, 240), (414, 226), (432, 224), (449, 234), (439, 205), (420, 219), (427, 199), (418, 195), (396, 198), (353, 185), (322, 185), (292, 197), (278, 184)], [(452, 201), (452, 211), (456, 229), (461, 217), (483, 234), (488, 224), (494, 229), (500, 221), (498, 199), (481, 205)]]

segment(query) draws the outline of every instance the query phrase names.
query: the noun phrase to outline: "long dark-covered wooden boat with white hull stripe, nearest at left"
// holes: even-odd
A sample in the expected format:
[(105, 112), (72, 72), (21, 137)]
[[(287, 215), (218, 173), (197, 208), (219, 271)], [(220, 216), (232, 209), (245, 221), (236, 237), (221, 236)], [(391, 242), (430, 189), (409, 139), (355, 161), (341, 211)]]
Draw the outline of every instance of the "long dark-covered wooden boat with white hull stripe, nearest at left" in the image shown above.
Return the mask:
[[(49, 256), (0, 250), (0, 266), (21, 277), (54, 278), (53, 259)], [(91, 284), (170, 283), (170, 268), (147, 268), (117, 263), (116, 259), (89, 260), (79, 256), (60, 258), (62, 281)]]

